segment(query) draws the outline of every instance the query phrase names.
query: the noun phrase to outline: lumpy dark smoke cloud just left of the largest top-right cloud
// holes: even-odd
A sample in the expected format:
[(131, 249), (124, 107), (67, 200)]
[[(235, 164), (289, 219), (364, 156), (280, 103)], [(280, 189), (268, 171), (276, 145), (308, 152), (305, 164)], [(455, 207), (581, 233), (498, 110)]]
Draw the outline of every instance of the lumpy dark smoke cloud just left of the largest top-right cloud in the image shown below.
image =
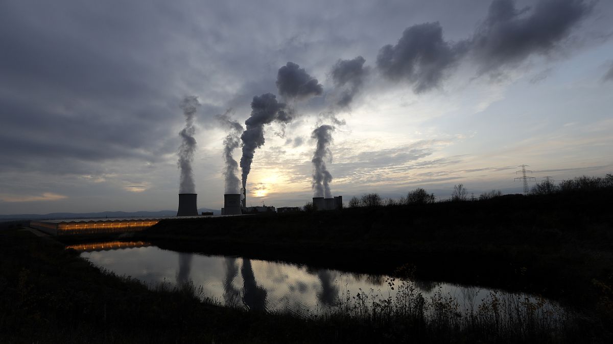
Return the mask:
[(417, 24), (405, 29), (396, 45), (379, 50), (377, 67), (390, 80), (413, 84), (419, 93), (440, 86), (464, 51), (463, 43), (443, 39), (440, 23)]

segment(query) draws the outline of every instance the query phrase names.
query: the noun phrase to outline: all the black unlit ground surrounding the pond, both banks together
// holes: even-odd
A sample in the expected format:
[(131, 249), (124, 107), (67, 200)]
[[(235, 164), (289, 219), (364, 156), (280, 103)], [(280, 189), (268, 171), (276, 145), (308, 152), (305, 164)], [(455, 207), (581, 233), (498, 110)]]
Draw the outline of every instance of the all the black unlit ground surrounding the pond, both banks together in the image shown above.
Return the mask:
[[(554, 327), (494, 310), (436, 305), (301, 319), (200, 302), (197, 288), (150, 291), (72, 250), (0, 234), (0, 342), (610, 342), (611, 190), (488, 201), (164, 221), (137, 233), (162, 248), (310, 263), (544, 294), (574, 315)], [(66, 242), (83, 237), (65, 238)], [(104, 238), (98, 238), (104, 239)], [(413, 296), (408, 300), (415, 301)], [(359, 297), (358, 297), (359, 298)], [(384, 305), (385, 306), (385, 305)], [(416, 310), (417, 309), (417, 310)], [(359, 310), (360, 312), (356, 312)], [(462, 320), (457, 320), (457, 319)]]

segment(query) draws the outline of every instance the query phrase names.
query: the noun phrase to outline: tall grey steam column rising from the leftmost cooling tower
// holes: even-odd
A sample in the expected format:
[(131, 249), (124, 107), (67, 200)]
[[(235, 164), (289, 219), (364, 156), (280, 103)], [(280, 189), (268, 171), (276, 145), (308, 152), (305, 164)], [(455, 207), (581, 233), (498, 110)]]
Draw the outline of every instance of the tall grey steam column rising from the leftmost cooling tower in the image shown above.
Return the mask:
[(191, 163), (194, 160), (194, 151), (196, 150), (194, 115), (199, 106), (198, 98), (193, 95), (186, 96), (180, 105), (183, 115), (185, 115), (185, 128), (179, 132), (182, 140), (178, 151), (179, 160), (177, 162), (181, 169), (179, 193), (196, 193)]

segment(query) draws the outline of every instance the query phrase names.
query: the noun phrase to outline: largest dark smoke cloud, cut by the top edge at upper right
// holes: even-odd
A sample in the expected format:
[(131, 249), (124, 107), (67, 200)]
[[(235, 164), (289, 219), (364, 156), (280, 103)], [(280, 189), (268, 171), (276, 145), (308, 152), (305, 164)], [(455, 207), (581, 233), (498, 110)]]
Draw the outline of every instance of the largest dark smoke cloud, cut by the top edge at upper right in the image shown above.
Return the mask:
[(551, 53), (592, 7), (593, 2), (584, 0), (540, 0), (523, 9), (513, 0), (492, 1), (470, 42), (479, 72), (519, 64), (531, 54)]

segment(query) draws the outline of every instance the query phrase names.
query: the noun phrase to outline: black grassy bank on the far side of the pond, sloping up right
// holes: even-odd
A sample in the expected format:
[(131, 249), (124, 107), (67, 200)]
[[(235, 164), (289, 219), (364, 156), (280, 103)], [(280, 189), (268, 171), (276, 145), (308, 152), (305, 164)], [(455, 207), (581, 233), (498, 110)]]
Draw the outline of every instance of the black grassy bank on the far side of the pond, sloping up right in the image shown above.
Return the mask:
[[(611, 189), (485, 201), (168, 220), (159, 247), (545, 294), (592, 312), (613, 284)], [(606, 307), (605, 307), (606, 308)], [(609, 310), (610, 311), (610, 310)]]

